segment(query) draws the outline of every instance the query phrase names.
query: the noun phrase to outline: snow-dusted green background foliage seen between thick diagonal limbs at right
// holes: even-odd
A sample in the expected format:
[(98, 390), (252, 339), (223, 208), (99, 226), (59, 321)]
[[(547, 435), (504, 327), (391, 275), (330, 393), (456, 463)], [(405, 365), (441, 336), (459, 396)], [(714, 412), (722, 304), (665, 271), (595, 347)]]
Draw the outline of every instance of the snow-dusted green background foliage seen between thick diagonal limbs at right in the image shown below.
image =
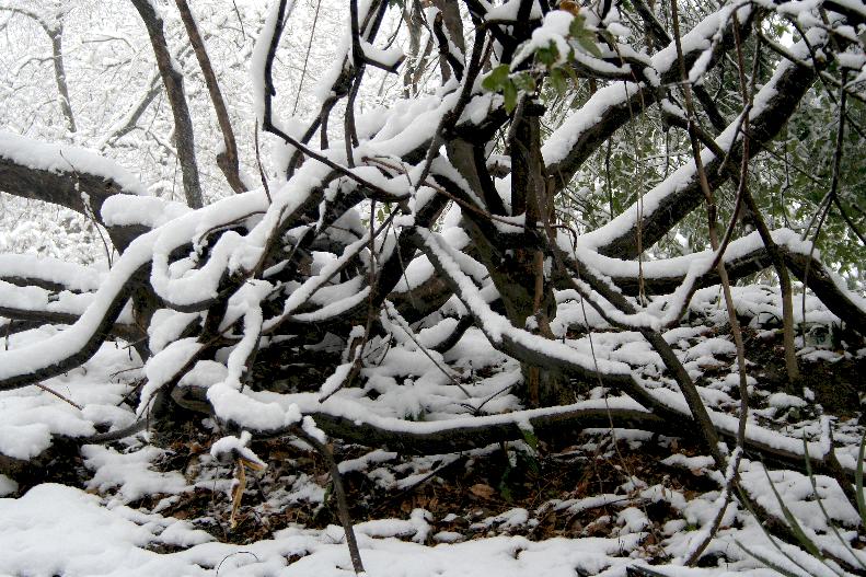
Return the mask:
[[(576, 42), (591, 38), (592, 33), (581, 32), (578, 19), (573, 27), (571, 37)], [(777, 19), (766, 19), (762, 32), (774, 39), (792, 33), (797, 35), (789, 23)], [(747, 42), (743, 46), (747, 62), (751, 62), (754, 51), (754, 43)], [(755, 90), (770, 80), (776, 66), (776, 57), (766, 49), (760, 56)], [(573, 67), (562, 69), (567, 74)], [(587, 82), (578, 79), (569, 83), (567, 77), (558, 73), (551, 72), (549, 77), (550, 90), (544, 94), (549, 114), (544, 122), (553, 129), (570, 108), (584, 105), (591, 91)], [(713, 69), (702, 78), (702, 85), (726, 118), (738, 114), (741, 96), (736, 74), (729, 68)], [(866, 104), (848, 97), (845, 113), (839, 204), (831, 204), (827, 211), (817, 249), (821, 259), (840, 272), (853, 288), (862, 288), (866, 285), (864, 245), (846, 220), (859, 234), (866, 233), (866, 170), (862, 161), (862, 151), (866, 149)], [(562, 218), (580, 233), (604, 224), (692, 159), (688, 136), (679, 128), (667, 127), (657, 108), (636, 105), (628, 114), (632, 128), (616, 132), (609, 143), (599, 147), (575, 175), (566, 194), (557, 199)], [(822, 200), (831, 188), (839, 116), (839, 89), (817, 82), (780, 136), (752, 161), (749, 191), (771, 229), (785, 227), (803, 233), (815, 219), (807, 239), (816, 238), (816, 216), (827, 209)], [(701, 107), (698, 122), (705, 130), (715, 134)], [(735, 200), (736, 189), (730, 182), (715, 191), (719, 227), (727, 227), (732, 218)], [(748, 232), (738, 226), (735, 238)], [(651, 251), (653, 256), (667, 257), (702, 251), (708, 244), (706, 210), (702, 208), (683, 219)], [(775, 277), (770, 275), (770, 278)]]

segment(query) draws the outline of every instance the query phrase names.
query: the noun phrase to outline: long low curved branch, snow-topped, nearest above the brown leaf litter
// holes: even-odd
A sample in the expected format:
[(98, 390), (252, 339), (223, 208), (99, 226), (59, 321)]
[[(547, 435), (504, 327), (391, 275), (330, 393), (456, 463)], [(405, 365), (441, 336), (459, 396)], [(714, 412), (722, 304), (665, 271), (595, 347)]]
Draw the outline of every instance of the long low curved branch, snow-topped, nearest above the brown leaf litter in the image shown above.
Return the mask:
[[(182, 385), (172, 397), (182, 406), (203, 411), (208, 406), (207, 389)], [(530, 408), (500, 415), (465, 416), (437, 422), (407, 422), (395, 417), (371, 414), (365, 405), (347, 399), (320, 403), (317, 393), (277, 394), (250, 393), (261, 402), (275, 402), (282, 407), (296, 404), (303, 415), (312, 417), (328, 436), (346, 442), (400, 451), (405, 454), (442, 454), (487, 447), (499, 441), (520, 440), (532, 430), (539, 438), (573, 439), (585, 429), (608, 429), (613, 422), (616, 428), (648, 430), (673, 437), (693, 431), (691, 416), (681, 408), (669, 408), (666, 414), (647, 409), (632, 399), (620, 396), (605, 400), (580, 401), (570, 405)], [(648, 395), (661, 403), (653, 394)], [(734, 440), (738, 419), (709, 411), (711, 418), (721, 437)], [(146, 420), (125, 430), (103, 434), (106, 440), (77, 439), (80, 442), (106, 442), (118, 435), (135, 434)], [(249, 428), (249, 427), (247, 427)], [(264, 437), (277, 437), (286, 430), (263, 430)], [(773, 461), (803, 471), (806, 466), (803, 439), (778, 435), (770, 429), (749, 425), (746, 437), (747, 452), (758, 453)], [(832, 451), (824, 454), (820, 443), (810, 443), (809, 454), (813, 470), (835, 477), (854, 477), (854, 464), (840, 464)], [(822, 455), (822, 457), (818, 457)]]

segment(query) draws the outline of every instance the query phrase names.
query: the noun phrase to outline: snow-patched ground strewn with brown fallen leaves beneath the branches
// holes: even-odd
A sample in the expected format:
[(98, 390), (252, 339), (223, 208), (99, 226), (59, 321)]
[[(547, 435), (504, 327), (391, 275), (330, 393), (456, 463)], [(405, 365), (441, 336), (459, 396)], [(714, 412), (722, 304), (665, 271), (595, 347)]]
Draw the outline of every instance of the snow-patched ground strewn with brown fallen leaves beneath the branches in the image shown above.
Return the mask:
[[(806, 389), (794, 394), (780, 331), (750, 327), (744, 336), (760, 382), (750, 399), (753, 422), (797, 437), (832, 415), (835, 442), (856, 451), (864, 343), (813, 331), (800, 351)], [(728, 338), (724, 327), (697, 341), (719, 338)], [(93, 382), (113, 374), (118, 391), (129, 390), (140, 376), (125, 356), (106, 346), (84, 374)], [(736, 406), (736, 386), (725, 385), (729, 350), (715, 347), (712, 356), (724, 362), (703, 357), (704, 400)], [(0, 396), (0, 412), (14, 399)], [(160, 434), (159, 447), (147, 436), (80, 450), (55, 441), (61, 450), (50, 460), (19, 470), (14, 481), (0, 475), (8, 497), (0, 499), (0, 551), (12, 552), (0, 555), (0, 575), (350, 575), (322, 458), (300, 441), (254, 441), (268, 466), (245, 470), (232, 512), (238, 471), (209, 452), (220, 437), (209, 419), (192, 419)], [(696, 568), (682, 567), (719, 506), (718, 473), (693, 438), (590, 429), (424, 457), (332, 447), (369, 575), (614, 576), (628, 567), (645, 572), (628, 575), (777, 575), (766, 561), (794, 575), (836, 574), (801, 547), (774, 544), (736, 501)], [(866, 534), (835, 481), (766, 465), (770, 474), (747, 453), (740, 468), (757, 500), (780, 518), (785, 503), (822, 547), (859, 570), (853, 555), (866, 547)]]

